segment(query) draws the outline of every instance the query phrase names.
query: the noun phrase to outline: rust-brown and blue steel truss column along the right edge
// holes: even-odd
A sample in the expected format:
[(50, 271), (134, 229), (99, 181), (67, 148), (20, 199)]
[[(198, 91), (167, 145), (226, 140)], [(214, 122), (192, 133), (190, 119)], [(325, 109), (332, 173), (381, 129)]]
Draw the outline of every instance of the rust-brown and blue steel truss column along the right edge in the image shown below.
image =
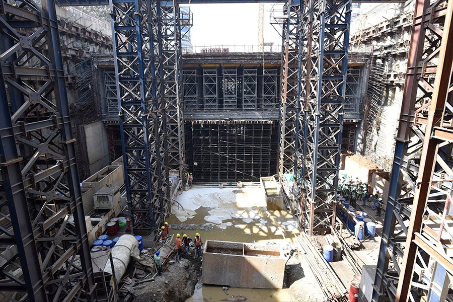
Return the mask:
[(451, 1), (415, 2), (373, 300), (417, 301), (422, 290), (428, 300), (445, 300), (447, 286), (433, 284), (453, 273), (444, 250), (451, 247), (453, 139), (444, 127), (453, 119), (452, 11)]

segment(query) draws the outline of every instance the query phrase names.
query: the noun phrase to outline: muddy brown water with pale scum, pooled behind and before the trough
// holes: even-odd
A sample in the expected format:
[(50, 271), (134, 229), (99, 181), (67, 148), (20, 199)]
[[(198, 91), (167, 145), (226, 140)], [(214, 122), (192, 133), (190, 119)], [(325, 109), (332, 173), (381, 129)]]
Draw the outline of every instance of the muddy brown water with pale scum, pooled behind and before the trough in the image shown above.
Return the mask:
[[(170, 230), (170, 234), (187, 234), (202, 241), (292, 242), (298, 235), (296, 221), (286, 211), (267, 211), (259, 188), (190, 189), (177, 197), (184, 210), (175, 203), (170, 224), (211, 225), (211, 230)], [(219, 272), (220, 273), (220, 272)], [(199, 288), (197, 288), (199, 287)], [(219, 301), (242, 294), (248, 301), (290, 301), (289, 289), (230, 288), (227, 296), (221, 286), (197, 284), (187, 301)]]

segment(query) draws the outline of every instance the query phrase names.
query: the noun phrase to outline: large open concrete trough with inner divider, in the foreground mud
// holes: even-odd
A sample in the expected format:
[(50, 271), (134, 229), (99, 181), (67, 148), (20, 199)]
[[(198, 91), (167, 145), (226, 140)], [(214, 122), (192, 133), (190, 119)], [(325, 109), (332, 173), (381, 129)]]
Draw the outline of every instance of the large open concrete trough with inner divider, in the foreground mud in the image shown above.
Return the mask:
[(201, 280), (232, 287), (282, 288), (285, 263), (278, 246), (207, 240)]

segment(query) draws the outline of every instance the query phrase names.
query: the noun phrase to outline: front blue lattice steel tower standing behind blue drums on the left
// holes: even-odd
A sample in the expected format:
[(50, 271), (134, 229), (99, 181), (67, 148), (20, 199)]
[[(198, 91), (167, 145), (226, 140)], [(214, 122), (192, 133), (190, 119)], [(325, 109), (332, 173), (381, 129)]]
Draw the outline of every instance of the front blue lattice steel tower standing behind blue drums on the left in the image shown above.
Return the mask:
[(110, 0), (114, 64), (120, 108), (123, 167), (131, 231), (154, 231), (160, 196), (150, 169), (155, 160), (152, 108), (152, 43), (149, 20), (152, 1)]

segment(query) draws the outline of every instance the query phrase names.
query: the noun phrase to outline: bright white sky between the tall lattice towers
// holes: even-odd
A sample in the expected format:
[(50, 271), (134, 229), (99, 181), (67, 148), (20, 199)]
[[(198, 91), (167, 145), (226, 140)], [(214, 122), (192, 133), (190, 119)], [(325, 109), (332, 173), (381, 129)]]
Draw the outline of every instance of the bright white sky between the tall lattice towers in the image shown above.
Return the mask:
[[(258, 45), (258, 4), (191, 4), (192, 45)], [(283, 5), (276, 4), (281, 11)], [(264, 6), (264, 42), (281, 44), (280, 34), (270, 25), (272, 4)], [(281, 13), (280, 13), (281, 14)], [(195, 49), (194, 49), (195, 50)], [(232, 51), (233, 49), (231, 49)], [(196, 50), (195, 50), (196, 51)]]

